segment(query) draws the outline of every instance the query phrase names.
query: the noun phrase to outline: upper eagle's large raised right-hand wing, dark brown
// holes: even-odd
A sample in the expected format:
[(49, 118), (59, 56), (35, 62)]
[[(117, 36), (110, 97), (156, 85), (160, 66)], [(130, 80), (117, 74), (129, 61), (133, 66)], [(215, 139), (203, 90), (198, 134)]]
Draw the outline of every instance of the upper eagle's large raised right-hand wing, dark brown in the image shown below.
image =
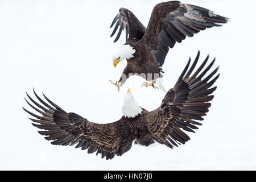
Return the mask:
[(186, 36), (192, 37), (201, 30), (221, 26), (228, 19), (213, 14), (203, 7), (181, 4), (179, 1), (159, 3), (154, 7), (147, 31), (141, 41), (155, 53), (156, 61), (164, 64), (164, 59), (176, 42), (181, 43)]

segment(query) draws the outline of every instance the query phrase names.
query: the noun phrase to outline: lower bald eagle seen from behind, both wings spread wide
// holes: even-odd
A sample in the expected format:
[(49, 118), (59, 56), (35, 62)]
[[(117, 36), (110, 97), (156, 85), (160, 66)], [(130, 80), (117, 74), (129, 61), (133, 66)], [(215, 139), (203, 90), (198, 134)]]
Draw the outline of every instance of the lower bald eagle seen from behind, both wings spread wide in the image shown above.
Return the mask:
[[(216, 87), (211, 87), (219, 75), (212, 78), (218, 71), (216, 68), (205, 76), (214, 63), (213, 60), (205, 68), (208, 59), (209, 56), (194, 73), (192, 72), (199, 60), (199, 53), (190, 68), (189, 59), (175, 87), (167, 92), (162, 104), (154, 111), (139, 107), (129, 89), (122, 105), (123, 116), (117, 122), (90, 122), (75, 113), (67, 113), (43, 95), (48, 101), (47, 104), (35, 91), (35, 97), (40, 104), (28, 94), (27, 97), (34, 105), (25, 100), (42, 116), (23, 109), (36, 118), (31, 118), (34, 122), (32, 125), (45, 130), (38, 132), (46, 135), (45, 139), (53, 140), (51, 144), (77, 144), (76, 148), (88, 149), (89, 154), (97, 152), (97, 155), (101, 154), (101, 157), (106, 157), (107, 160), (113, 159), (115, 155), (125, 154), (134, 141), (142, 146), (158, 142), (170, 148), (178, 147), (177, 144), (185, 144), (190, 139), (184, 131), (195, 133), (193, 130), (198, 129), (195, 125), (201, 125), (197, 121), (203, 121), (202, 117), (209, 111), (209, 101), (213, 99), (210, 94), (216, 90)], [(212, 80), (209, 81), (210, 79)]]

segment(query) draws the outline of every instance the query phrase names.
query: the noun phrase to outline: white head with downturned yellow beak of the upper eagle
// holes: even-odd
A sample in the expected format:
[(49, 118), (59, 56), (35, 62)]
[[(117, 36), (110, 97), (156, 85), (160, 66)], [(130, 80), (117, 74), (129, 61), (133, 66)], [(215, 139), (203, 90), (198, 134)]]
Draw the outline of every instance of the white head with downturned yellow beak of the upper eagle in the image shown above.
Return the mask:
[(113, 55), (113, 65), (114, 67), (117, 66), (117, 64), (122, 61), (122, 60), (129, 60), (132, 57), (134, 57), (134, 53), (135, 53), (135, 49), (133, 47), (131, 47), (128, 44), (125, 44), (123, 46), (121, 46), (118, 51)]

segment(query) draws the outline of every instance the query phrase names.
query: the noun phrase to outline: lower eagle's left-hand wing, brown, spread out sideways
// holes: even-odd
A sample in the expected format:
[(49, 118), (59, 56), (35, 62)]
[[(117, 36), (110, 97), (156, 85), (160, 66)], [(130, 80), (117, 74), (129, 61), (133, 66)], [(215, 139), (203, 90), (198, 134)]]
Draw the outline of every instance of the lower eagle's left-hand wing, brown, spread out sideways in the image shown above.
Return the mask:
[(46, 135), (46, 140), (54, 140), (51, 144), (62, 146), (77, 144), (76, 148), (88, 149), (88, 154), (97, 152), (97, 155), (101, 154), (102, 158), (106, 156), (107, 160), (113, 159), (115, 155), (121, 156), (130, 150), (132, 141), (121, 137), (122, 128), (119, 121), (106, 125), (89, 122), (80, 115), (67, 113), (46, 96), (44, 97), (49, 104), (44, 102), (36, 93), (35, 96), (42, 105), (34, 101), (28, 94), (27, 97), (35, 106), (25, 100), (42, 116), (23, 109), (37, 118), (30, 118), (34, 122), (32, 125), (46, 130), (39, 131), (39, 134)]

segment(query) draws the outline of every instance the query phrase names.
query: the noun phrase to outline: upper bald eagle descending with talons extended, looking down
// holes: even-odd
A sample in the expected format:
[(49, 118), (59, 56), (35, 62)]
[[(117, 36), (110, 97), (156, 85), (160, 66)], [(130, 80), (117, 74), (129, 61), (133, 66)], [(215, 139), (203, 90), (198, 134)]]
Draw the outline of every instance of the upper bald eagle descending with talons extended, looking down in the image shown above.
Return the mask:
[[(114, 54), (113, 64), (116, 67), (120, 61), (126, 59), (127, 66), (118, 82), (110, 81), (119, 90), (127, 78), (135, 74), (150, 81), (144, 83), (144, 86), (157, 88), (154, 83), (163, 76), (162, 65), (169, 47), (173, 48), (176, 42), (181, 43), (186, 36), (192, 37), (201, 30), (227, 22), (227, 18), (203, 7), (170, 1), (154, 7), (145, 28), (130, 10), (121, 8), (110, 26), (111, 28), (115, 24), (111, 36), (120, 27), (114, 42), (117, 42), (122, 30), (126, 30), (126, 43)], [(159, 88), (163, 86), (159, 85)]]

